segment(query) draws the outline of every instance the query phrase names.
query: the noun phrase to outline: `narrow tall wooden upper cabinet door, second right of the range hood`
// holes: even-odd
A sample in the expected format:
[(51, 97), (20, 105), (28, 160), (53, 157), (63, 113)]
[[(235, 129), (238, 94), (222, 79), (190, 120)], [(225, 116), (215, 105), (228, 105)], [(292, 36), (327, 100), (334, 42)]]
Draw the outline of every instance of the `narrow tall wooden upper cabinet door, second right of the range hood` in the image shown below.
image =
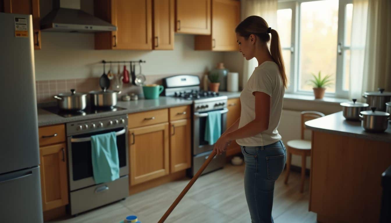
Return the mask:
[(174, 50), (174, 0), (153, 0), (153, 49)]

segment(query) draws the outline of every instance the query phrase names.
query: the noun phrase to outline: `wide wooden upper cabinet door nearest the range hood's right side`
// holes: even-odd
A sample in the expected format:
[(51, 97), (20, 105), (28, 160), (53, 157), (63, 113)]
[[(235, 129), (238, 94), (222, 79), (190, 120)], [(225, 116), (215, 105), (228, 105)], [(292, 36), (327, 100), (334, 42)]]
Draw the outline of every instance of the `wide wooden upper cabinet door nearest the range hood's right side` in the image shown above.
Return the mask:
[(152, 50), (152, 0), (112, 0), (113, 49)]

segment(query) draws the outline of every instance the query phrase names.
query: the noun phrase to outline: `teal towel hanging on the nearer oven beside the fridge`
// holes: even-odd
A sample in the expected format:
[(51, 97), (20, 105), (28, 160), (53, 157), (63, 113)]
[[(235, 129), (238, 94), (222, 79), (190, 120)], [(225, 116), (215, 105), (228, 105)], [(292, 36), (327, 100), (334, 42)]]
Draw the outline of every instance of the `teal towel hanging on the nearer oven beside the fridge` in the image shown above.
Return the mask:
[(96, 184), (120, 177), (117, 136), (115, 132), (91, 136), (92, 170)]

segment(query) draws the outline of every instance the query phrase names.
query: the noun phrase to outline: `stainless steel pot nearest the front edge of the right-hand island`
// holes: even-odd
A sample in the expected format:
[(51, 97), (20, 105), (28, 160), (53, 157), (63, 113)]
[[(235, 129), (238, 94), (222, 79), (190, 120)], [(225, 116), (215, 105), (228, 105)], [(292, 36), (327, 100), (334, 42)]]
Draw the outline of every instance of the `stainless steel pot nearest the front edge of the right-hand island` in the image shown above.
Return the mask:
[(376, 107), (371, 107), (371, 110), (360, 112), (361, 127), (367, 132), (384, 132), (388, 127), (390, 113), (375, 111)]

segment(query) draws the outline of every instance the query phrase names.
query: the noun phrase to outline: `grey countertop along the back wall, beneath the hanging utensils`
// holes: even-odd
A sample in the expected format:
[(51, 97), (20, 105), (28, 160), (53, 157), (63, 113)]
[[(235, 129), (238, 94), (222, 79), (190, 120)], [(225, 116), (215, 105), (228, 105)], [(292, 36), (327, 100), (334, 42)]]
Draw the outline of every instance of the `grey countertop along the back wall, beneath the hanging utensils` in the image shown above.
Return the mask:
[[(238, 98), (240, 96), (240, 92), (219, 92), (219, 95), (227, 96), (228, 98)], [(158, 99), (139, 99), (137, 101), (129, 102), (123, 102), (118, 100), (117, 107), (122, 107), (124, 108), (124, 110), (89, 114), (88, 116), (76, 116), (71, 118), (65, 118), (63, 116), (59, 116), (52, 112), (46, 111), (42, 108), (38, 108), (38, 126), (41, 127), (45, 125), (56, 125), (71, 121), (81, 121), (93, 118), (115, 116), (120, 114), (130, 114), (156, 109), (164, 109), (169, 107), (177, 107), (182, 105), (191, 105), (192, 103), (193, 102), (191, 100), (165, 96), (160, 96)]]

